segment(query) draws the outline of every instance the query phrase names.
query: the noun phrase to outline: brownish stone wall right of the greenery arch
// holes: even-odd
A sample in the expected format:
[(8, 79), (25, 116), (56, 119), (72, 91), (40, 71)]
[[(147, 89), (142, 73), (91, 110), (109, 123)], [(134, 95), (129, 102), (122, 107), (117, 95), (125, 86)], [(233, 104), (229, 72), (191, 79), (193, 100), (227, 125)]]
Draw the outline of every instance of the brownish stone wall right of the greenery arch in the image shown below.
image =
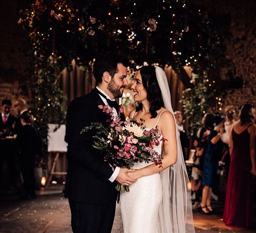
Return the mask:
[(250, 102), (256, 106), (255, 0), (194, 0), (205, 9), (220, 33), (231, 64), (221, 72), (226, 81), (224, 106)]

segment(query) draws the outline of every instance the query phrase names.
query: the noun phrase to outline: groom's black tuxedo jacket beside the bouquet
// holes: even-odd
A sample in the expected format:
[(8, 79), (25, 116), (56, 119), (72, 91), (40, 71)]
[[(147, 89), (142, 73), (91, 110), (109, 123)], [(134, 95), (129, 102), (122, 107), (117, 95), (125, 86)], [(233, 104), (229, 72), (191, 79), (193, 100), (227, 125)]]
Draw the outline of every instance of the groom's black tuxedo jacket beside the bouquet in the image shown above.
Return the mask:
[[(96, 131), (80, 134), (82, 128), (91, 122), (101, 122), (108, 127), (106, 120), (110, 116), (103, 113), (98, 105), (105, 104), (98, 91), (93, 89), (68, 106), (65, 140), (68, 143), (69, 165), (65, 197), (77, 202), (104, 205), (116, 198), (117, 182), (108, 180), (113, 170), (108, 162), (104, 162), (104, 155), (92, 146)], [(124, 115), (121, 118), (124, 119)]]

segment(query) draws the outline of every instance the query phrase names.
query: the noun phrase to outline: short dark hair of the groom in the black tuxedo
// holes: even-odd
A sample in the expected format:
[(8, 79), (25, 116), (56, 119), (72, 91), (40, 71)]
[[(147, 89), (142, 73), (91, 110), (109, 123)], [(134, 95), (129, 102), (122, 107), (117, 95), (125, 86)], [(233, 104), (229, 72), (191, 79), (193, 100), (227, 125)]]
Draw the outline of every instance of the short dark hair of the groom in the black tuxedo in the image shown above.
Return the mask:
[(113, 52), (99, 54), (95, 58), (95, 62), (93, 64), (93, 75), (96, 79), (97, 85), (102, 83), (102, 76), (104, 72), (108, 72), (113, 78), (118, 72), (117, 64), (119, 63), (122, 63), (125, 67), (130, 65), (129, 59), (120, 54)]

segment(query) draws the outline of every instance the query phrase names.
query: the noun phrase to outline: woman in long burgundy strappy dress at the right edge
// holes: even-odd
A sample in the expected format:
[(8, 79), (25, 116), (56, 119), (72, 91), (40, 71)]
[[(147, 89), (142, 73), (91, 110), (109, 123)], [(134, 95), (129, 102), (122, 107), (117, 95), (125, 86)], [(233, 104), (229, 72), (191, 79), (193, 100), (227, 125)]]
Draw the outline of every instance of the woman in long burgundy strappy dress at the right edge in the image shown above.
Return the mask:
[(239, 121), (230, 133), (230, 169), (223, 221), (227, 226), (253, 225), (252, 176), (256, 176), (256, 111), (250, 104), (242, 106)]

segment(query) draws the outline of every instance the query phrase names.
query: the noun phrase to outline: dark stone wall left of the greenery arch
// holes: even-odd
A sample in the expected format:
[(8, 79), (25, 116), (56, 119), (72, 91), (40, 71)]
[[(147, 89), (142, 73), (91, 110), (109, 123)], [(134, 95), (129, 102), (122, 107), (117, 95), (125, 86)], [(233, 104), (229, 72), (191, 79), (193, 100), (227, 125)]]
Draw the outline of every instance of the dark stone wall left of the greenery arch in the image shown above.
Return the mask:
[[(18, 11), (27, 7), (27, 2), (0, 0), (0, 102), (5, 98), (14, 102), (18, 95), (19, 80), (29, 78), (26, 77), (29, 39), (17, 24)], [(14, 108), (11, 112), (16, 114)]]

